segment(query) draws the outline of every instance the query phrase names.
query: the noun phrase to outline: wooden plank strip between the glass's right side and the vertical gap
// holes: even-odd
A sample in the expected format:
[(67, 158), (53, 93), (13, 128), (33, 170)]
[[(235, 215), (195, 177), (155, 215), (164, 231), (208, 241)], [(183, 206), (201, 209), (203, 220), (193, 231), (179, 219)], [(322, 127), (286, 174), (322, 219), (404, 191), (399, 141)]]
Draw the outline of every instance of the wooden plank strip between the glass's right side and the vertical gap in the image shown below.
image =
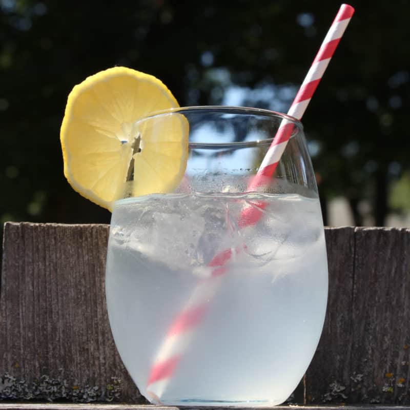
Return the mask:
[(306, 402), (344, 402), (350, 379), (354, 228), (326, 228), (329, 297), (322, 336), (305, 377)]

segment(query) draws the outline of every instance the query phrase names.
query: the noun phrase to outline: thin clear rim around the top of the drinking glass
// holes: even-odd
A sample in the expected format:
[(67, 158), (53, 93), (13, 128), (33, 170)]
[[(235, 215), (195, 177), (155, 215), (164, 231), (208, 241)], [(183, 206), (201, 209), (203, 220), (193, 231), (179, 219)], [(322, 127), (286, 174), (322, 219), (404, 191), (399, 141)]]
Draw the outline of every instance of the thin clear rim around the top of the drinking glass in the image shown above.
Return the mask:
[[(137, 119), (134, 124), (138, 124), (140, 121), (145, 121), (150, 118), (154, 118), (157, 116), (162, 116), (162, 115), (167, 115), (167, 114), (173, 114), (173, 113), (178, 113), (181, 112), (182, 114), (184, 112), (195, 112), (195, 111), (208, 111), (209, 113), (227, 113), (227, 114), (249, 114), (249, 115), (264, 115), (264, 116), (270, 116), (273, 118), (279, 118), (279, 119), (286, 119), (288, 121), (293, 122), (293, 124), (296, 126), (298, 129), (298, 134), (299, 132), (303, 133), (303, 125), (300, 120), (298, 120), (295, 117), (292, 117), (291, 115), (284, 114), (278, 111), (272, 111), (272, 110), (266, 110), (263, 108), (252, 108), (252, 107), (240, 107), (240, 106), (191, 106), (191, 107), (174, 107), (174, 108), (169, 108), (166, 110), (159, 110), (159, 111), (154, 111), (150, 113), (149, 115), (145, 117), (141, 117)], [(295, 133), (291, 135), (291, 138), (296, 136)], [(212, 149), (212, 148), (232, 148), (232, 147), (238, 147), (238, 148), (247, 148), (247, 147), (256, 147), (256, 146), (263, 146), (263, 145), (271, 145), (273, 139), (275, 138), (275, 135), (272, 138), (265, 138), (265, 139), (255, 139), (253, 141), (240, 141), (240, 142), (193, 142), (189, 141), (188, 146), (189, 148), (204, 148), (204, 149)]]

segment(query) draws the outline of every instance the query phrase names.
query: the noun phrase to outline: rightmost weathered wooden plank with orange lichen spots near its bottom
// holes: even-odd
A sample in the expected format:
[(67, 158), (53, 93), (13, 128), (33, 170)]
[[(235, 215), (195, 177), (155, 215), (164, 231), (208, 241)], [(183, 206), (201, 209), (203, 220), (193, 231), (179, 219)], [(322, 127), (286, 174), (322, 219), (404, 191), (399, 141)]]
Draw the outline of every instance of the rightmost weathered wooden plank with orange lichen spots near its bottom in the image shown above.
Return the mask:
[(352, 401), (410, 403), (410, 230), (356, 230)]

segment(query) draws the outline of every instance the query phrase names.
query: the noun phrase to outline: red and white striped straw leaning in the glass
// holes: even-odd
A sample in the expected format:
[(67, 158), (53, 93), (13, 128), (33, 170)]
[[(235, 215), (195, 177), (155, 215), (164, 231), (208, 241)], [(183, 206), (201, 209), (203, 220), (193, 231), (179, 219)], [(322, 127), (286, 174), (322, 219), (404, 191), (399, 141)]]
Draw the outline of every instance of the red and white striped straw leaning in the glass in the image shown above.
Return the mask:
[[(341, 5), (308, 74), (293, 100), (288, 111), (289, 116), (297, 119), (302, 118), (354, 11), (352, 6)], [(267, 178), (272, 177), (293, 129), (294, 122), (291, 119), (285, 118), (282, 120), (257, 174), (248, 185), (248, 192), (257, 191), (258, 188), (265, 185)], [(250, 226), (260, 219), (265, 203), (258, 201), (256, 205), (243, 209), (238, 220), (239, 227)], [(198, 283), (185, 308), (172, 322), (165, 339), (159, 347), (147, 381), (147, 393), (157, 402), (160, 402), (161, 396), (171, 381), (197, 326), (208, 310), (209, 301), (218, 289), (220, 277), (226, 271), (224, 264), (229, 260), (234, 260), (235, 255), (240, 251), (241, 249), (229, 249), (219, 253), (212, 259), (208, 264), (210, 268), (209, 276)]]

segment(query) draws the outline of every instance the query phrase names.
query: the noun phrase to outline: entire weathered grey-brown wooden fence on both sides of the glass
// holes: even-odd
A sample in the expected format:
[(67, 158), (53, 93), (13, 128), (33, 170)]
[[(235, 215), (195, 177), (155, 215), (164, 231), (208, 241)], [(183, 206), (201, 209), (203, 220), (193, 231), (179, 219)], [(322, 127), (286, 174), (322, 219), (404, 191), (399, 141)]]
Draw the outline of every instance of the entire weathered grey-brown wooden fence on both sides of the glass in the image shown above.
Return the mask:
[[(6, 223), (0, 400), (145, 403), (108, 323), (107, 238), (106, 225)], [(292, 402), (409, 404), (410, 230), (326, 229), (326, 244), (323, 334)]]

